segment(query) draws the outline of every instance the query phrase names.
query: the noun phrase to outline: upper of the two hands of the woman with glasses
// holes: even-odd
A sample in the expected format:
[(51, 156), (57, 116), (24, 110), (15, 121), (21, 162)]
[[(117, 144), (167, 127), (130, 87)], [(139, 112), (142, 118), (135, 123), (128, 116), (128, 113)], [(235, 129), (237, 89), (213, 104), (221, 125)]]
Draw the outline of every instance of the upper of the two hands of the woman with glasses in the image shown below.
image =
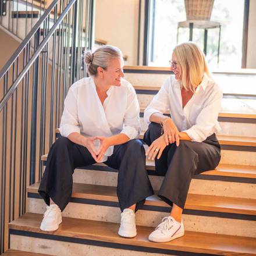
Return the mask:
[(176, 145), (179, 146), (180, 138), (179, 138), (179, 131), (173, 123), (173, 120), (170, 118), (166, 118), (162, 122), (163, 126), (163, 136), (166, 143), (174, 143), (176, 141)]

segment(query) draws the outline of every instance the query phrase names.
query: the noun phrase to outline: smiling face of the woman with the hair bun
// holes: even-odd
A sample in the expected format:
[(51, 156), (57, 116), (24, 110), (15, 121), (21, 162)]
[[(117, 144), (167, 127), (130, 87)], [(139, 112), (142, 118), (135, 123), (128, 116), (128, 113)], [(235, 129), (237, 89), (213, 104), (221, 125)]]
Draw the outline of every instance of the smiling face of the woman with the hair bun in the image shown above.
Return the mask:
[(123, 73), (123, 59), (111, 59), (108, 63), (108, 67), (103, 69), (102, 78), (105, 84), (111, 86), (120, 86), (121, 79), (124, 77)]

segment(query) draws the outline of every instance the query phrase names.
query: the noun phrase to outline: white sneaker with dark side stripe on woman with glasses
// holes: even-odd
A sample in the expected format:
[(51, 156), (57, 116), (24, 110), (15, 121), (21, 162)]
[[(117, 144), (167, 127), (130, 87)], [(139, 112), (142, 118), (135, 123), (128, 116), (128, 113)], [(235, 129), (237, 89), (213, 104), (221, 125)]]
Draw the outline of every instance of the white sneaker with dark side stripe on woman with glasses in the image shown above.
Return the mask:
[(180, 223), (168, 216), (162, 219), (148, 239), (153, 242), (168, 242), (181, 236), (184, 236), (183, 221)]

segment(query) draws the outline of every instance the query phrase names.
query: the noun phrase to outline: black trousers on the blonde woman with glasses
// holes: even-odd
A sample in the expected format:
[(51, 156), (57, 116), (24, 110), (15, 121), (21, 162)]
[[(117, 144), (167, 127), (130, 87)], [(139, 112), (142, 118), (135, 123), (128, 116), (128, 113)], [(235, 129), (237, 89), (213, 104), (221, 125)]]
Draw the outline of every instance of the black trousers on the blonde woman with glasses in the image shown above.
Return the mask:
[[(161, 136), (161, 126), (151, 123), (143, 140), (148, 145)], [(221, 147), (215, 134), (201, 143), (180, 140), (168, 145), (161, 158), (155, 159), (156, 174), (165, 176), (158, 196), (170, 206), (184, 208), (193, 175), (216, 168), (221, 159)]]

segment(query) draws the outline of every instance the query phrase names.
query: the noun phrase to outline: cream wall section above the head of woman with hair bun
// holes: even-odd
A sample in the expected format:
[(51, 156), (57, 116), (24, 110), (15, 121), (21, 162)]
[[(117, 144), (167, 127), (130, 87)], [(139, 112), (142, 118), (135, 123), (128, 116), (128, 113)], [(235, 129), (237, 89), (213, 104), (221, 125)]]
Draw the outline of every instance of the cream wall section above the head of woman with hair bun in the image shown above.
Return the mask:
[(96, 0), (95, 39), (119, 47), (127, 55), (126, 65), (136, 65), (138, 0)]

